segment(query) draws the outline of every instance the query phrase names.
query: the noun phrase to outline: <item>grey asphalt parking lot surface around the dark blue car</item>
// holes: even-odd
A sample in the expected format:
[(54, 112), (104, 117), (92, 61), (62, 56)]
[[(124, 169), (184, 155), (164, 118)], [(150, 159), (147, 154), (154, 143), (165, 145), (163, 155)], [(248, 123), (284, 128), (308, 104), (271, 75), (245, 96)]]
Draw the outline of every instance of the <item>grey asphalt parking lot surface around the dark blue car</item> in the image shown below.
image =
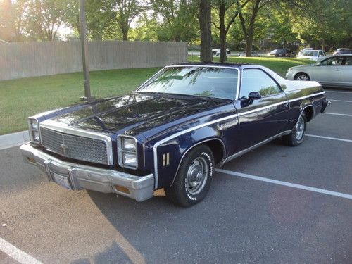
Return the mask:
[(1, 150), (0, 263), (352, 263), (352, 91), (327, 98), (301, 146), (227, 163), (191, 208), (68, 191)]

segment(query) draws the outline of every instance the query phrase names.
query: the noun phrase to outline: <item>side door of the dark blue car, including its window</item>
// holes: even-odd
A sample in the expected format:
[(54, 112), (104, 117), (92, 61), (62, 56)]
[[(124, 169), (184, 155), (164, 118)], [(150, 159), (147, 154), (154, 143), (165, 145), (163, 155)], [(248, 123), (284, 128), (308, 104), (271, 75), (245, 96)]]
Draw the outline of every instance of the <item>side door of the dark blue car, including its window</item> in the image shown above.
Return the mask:
[[(259, 92), (261, 98), (249, 101), (250, 92)], [(270, 139), (287, 127), (287, 96), (262, 69), (242, 71), (239, 99), (234, 105), (239, 115), (237, 152)]]

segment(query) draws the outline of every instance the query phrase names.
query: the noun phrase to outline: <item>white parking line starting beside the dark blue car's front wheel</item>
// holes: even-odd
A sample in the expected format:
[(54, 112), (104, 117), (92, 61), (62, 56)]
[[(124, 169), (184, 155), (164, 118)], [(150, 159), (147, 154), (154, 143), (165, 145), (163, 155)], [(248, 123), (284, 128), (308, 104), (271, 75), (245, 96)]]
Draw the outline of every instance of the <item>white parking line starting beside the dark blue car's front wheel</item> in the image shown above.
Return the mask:
[(337, 191), (329, 191), (326, 189), (319, 189), (319, 188), (315, 188), (315, 187), (309, 187), (309, 186), (305, 186), (305, 185), (301, 185), (301, 184), (295, 184), (295, 183), (291, 183), (291, 182), (282, 182), (279, 180), (272, 180), (269, 178), (264, 178), (264, 177), (259, 177), (259, 176), (254, 176), (254, 175), (249, 175), (249, 174), (245, 174), (245, 173), (241, 173), (241, 172), (234, 172), (231, 170), (222, 170), (219, 168), (215, 169), (216, 172), (221, 172), (221, 173), (225, 173), (228, 175), (233, 175), (233, 176), (237, 176), (237, 177), (243, 177), (243, 178), (247, 178), (247, 179), (251, 179), (251, 180), (258, 180), (261, 182), (270, 182), (273, 184), (279, 184), (279, 185), (283, 185), (286, 187), (292, 187), (292, 188), (296, 188), (296, 189), (303, 189), (306, 191), (313, 191), (313, 192), (318, 192), (320, 194), (327, 194), (327, 195), (332, 195), (332, 196), (337, 196), (337, 197), (341, 197), (341, 198), (346, 198), (346, 199), (351, 199), (352, 200), (352, 194), (343, 194), (341, 192), (337, 192)]

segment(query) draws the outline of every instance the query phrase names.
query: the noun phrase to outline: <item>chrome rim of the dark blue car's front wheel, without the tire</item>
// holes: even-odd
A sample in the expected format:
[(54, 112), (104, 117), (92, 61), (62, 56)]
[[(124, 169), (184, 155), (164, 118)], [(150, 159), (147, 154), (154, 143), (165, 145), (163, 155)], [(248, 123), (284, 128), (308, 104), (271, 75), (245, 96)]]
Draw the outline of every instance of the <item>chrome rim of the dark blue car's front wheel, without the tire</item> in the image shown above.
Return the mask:
[(186, 188), (189, 194), (197, 195), (203, 191), (209, 177), (209, 168), (206, 159), (195, 158), (189, 165), (186, 176)]

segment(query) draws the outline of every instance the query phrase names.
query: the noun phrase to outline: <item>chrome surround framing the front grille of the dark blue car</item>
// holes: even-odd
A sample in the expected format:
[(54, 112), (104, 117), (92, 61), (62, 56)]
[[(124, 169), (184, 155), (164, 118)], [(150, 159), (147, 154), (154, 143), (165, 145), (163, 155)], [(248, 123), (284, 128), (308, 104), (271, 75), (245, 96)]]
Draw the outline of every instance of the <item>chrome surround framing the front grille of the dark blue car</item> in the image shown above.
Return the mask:
[[(80, 128), (70, 127), (67, 124), (59, 123), (53, 120), (45, 120), (40, 123), (41, 127), (48, 128), (49, 130), (54, 130), (57, 132), (65, 133), (65, 134), (72, 134), (78, 137), (88, 137), (89, 139), (98, 139), (102, 140), (106, 144), (106, 156), (108, 157), (108, 165), (113, 165), (113, 142), (111, 141), (111, 137), (107, 135), (92, 132), (87, 130), (82, 130)], [(39, 137), (42, 144), (42, 135), (39, 130)]]

